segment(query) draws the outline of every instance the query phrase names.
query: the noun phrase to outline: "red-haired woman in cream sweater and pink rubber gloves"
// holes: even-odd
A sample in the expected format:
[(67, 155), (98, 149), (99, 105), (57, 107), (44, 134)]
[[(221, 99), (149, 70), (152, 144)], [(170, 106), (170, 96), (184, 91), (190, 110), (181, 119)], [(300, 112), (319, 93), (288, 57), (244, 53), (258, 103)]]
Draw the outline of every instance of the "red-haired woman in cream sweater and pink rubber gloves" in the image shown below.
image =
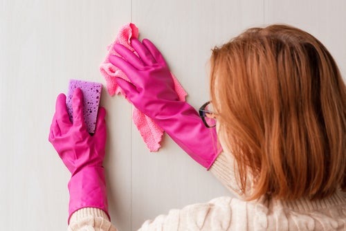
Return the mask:
[[(119, 44), (122, 57), (110, 58), (132, 82), (117, 79), (127, 98), (239, 194), (172, 210), (140, 230), (346, 229), (346, 87), (320, 41), (273, 25), (212, 50), (212, 103), (199, 111), (203, 122), (179, 102), (155, 46), (147, 39), (131, 44), (140, 58)], [(64, 99), (57, 98), (49, 140), (72, 173), (69, 230), (116, 230), (107, 216), (102, 167), (105, 111), (89, 136), (82, 93), (73, 97), (73, 124)]]

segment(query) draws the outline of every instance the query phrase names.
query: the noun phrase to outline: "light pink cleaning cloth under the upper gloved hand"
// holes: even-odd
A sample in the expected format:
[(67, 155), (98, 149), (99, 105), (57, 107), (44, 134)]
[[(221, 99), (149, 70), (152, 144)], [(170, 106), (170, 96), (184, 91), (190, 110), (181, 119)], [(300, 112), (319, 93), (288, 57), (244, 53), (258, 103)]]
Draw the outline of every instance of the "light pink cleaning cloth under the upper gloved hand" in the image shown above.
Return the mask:
[[(107, 47), (108, 53), (106, 59), (100, 65), (100, 72), (106, 80), (107, 91), (111, 96), (120, 93), (126, 98), (124, 91), (122, 91), (120, 86), (118, 86), (116, 83), (115, 77), (121, 77), (129, 82), (130, 80), (125, 73), (109, 62), (109, 55), (118, 55), (113, 48), (114, 44), (122, 44), (137, 55), (134, 48), (131, 46), (131, 38), (138, 38), (138, 28), (134, 24), (130, 23), (120, 28), (116, 40)], [(174, 89), (179, 95), (179, 100), (185, 101), (185, 97), (188, 94), (185, 92), (181, 84), (179, 84), (178, 80), (176, 80), (174, 75), (172, 75), (172, 78), (174, 81)], [(140, 136), (142, 136), (144, 142), (147, 144), (148, 149), (150, 151), (158, 151), (158, 149), (161, 147), (160, 142), (163, 136), (163, 129), (158, 127), (158, 125), (151, 118), (147, 117), (147, 115), (136, 109), (136, 107), (134, 108), (134, 112), (132, 114), (132, 120), (134, 120), (134, 124), (136, 124), (136, 127), (140, 132)]]

